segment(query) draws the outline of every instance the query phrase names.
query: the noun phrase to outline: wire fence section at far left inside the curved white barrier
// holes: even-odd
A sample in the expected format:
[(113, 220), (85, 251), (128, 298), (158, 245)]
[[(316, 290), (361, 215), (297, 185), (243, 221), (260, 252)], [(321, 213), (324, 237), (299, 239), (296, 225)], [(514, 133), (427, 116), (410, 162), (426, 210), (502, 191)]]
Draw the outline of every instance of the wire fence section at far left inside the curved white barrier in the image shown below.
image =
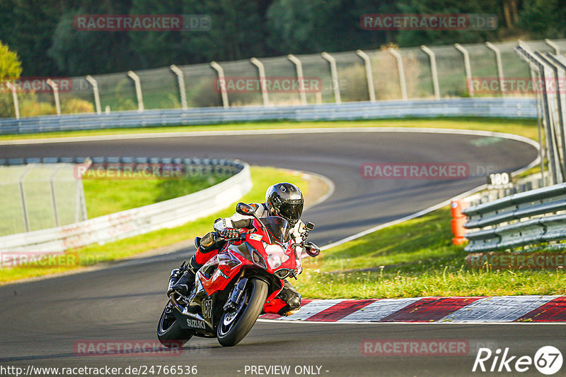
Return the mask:
[(74, 164), (0, 166), (0, 236), (86, 220)]

